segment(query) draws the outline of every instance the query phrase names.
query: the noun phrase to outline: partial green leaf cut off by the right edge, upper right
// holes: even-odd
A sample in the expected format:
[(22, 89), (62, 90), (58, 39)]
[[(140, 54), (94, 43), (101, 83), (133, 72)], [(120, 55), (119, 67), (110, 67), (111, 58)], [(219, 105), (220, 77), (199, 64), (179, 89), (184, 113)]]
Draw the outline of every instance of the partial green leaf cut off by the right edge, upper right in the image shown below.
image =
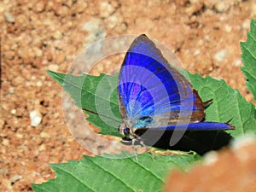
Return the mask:
[(256, 20), (251, 21), (251, 32), (247, 33), (247, 41), (240, 45), (244, 64), (241, 71), (247, 78), (247, 88), (256, 100)]

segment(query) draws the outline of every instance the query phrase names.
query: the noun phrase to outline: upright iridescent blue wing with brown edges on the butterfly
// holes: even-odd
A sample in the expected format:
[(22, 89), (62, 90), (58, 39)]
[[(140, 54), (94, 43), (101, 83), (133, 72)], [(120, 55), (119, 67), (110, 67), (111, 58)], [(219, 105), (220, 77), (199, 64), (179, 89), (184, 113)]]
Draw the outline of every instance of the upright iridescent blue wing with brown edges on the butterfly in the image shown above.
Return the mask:
[(135, 119), (134, 124), (147, 116), (175, 124), (181, 111), (183, 119), (192, 122), (205, 117), (204, 103), (189, 81), (170, 67), (145, 35), (136, 38), (125, 55), (118, 90), (122, 118)]

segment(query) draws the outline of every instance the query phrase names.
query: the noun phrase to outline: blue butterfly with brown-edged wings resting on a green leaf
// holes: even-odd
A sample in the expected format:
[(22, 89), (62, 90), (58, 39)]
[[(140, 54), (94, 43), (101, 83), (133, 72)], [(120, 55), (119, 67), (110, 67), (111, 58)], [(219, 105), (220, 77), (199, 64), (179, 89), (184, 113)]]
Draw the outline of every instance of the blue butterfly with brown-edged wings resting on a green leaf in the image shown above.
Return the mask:
[(212, 100), (202, 102), (189, 80), (169, 65), (144, 34), (132, 42), (125, 55), (118, 96), (122, 117), (118, 130), (123, 141), (142, 143), (149, 138), (153, 145), (166, 132), (182, 132), (180, 139), (188, 131), (235, 129), (229, 123), (204, 121), (205, 108)]

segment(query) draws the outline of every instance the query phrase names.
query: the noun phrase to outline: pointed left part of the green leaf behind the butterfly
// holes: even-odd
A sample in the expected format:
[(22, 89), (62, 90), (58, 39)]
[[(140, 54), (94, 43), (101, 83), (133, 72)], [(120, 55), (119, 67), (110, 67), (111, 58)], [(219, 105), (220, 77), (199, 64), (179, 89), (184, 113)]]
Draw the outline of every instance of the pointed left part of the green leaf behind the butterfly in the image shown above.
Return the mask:
[(52, 71), (47, 72), (52, 79), (61, 84), (79, 108), (86, 108), (107, 116), (102, 117), (102, 115), (86, 112), (89, 114), (87, 120), (93, 125), (102, 128), (101, 133), (103, 135), (120, 137), (119, 131), (117, 131), (117, 127), (121, 122), (116, 89), (117, 75), (101, 74), (100, 76), (90, 76), (84, 74), (82, 76), (73, 76)]

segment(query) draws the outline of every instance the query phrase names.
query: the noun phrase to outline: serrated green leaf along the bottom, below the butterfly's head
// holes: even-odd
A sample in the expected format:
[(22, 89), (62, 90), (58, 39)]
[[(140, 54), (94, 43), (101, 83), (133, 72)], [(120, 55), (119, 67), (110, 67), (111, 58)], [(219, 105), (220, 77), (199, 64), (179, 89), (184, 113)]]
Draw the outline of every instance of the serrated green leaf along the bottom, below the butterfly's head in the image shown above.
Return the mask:
[[(127, 158), (121, 158), (127, 156)], [(88, 157), (84, 160), (68, 161), (67, 164), (51, 165), (56, 178), (47, 183), (32, 184), (35, 192), (58, 191), (161, 191), (167, 174), (173, 169), (188, 171), (196, 154), (156, 155), (139, 154), (137, 163), (131, 154), (112, 154), (108, 157)]]

